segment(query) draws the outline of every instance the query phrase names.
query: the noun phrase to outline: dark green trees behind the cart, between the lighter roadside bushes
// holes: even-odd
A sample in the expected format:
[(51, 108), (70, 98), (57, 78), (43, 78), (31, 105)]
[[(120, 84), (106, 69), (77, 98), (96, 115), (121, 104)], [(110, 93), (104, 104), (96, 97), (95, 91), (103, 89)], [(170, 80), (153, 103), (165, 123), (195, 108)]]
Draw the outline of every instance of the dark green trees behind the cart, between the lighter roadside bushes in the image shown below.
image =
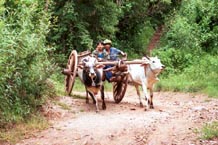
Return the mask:
[(54, 27), (48, 40), (56, 47), (60, 65), (72, 49), (93, 50), (106, 38), (126, 52), (142, 55), (164, 16), (179, 4), (180, 0), (57, 0), (51, 7)]

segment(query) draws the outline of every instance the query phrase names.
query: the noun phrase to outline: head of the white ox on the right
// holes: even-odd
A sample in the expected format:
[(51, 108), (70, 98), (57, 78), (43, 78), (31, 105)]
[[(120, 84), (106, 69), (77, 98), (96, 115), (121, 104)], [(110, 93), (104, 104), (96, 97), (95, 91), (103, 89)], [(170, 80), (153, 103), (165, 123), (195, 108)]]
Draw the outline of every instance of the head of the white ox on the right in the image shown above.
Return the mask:
[(160, 59), (155, 57), (143, 57), (142, 60), (146, 60), (146, 63), (143, 65), (150, 67), (151, 71), (154, 74), (159, 74), (165, 66), (161, 63)]

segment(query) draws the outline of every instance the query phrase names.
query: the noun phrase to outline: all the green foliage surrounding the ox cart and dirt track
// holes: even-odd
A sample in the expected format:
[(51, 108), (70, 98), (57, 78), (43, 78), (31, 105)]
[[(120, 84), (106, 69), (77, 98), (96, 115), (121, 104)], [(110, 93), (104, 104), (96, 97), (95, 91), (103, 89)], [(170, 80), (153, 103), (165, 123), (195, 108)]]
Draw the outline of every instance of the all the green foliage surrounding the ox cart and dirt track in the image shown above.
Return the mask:
[(160, 26), (152, 55), (167, 67), (158, 88), (218, 96), (216, 0), (1, 0), (0, 125), (46, 100), (51, 59), (63, 67), (72, 49), (93, 50), (106, 38), (140, 58)]

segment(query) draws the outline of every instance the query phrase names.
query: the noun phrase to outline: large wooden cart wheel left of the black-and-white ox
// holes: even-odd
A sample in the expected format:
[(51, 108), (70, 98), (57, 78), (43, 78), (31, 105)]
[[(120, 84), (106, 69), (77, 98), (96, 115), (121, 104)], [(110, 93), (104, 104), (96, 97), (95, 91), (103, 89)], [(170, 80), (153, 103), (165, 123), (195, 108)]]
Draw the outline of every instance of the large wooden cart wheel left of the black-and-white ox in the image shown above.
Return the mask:
[(76, 71), (77, 71), (77, 64), (78, 64), (78, 58), (77, 58), (77, 52), (76, 50), (73, 50), (69, 56), (67, 67), (66, 69), (69, 71), (68, 75), (65, 77), (65, 90), (68, 95), (71, 94), (75, 78), (76, 78)]

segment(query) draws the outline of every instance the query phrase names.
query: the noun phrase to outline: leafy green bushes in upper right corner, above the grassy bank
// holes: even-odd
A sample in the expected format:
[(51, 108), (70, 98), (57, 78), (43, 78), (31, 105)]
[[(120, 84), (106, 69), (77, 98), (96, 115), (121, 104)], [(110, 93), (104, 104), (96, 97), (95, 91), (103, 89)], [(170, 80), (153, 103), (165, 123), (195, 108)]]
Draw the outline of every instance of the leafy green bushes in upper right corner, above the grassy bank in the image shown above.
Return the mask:
[(218, 53), (218, 2), (182, 1), (180, 10), (168, 18), (165, 43), (186, 51)]

